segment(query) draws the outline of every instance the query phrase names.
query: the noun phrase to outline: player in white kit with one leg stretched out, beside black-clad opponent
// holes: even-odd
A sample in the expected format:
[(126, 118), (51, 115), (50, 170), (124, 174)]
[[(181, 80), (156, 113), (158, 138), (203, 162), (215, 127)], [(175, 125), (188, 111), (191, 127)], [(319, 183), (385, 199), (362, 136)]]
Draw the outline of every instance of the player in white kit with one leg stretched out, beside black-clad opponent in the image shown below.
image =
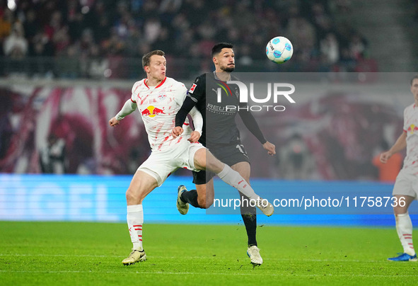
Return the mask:
[(190, 111), (195, 131), (185, 122), (185, 133), (177, 138), (171, 135), (175, 127), (175, 115), (185, 100), (187, 88), (184, 84), (166, 77), (164, 52), (155, 50), (144, 55), (142, 66), (146, 72), (146, 79), (134, 84), (131, 98), (124, 103), (122, 110), (109, 120), (110, 126), (115, 127), (120, 124), (120, 120), (138, 108), (151, 145), (151, 155), (139, 166), (126, 193), (127, 224), (133, 248), (129, 256), (122, 261), (124, 265), (146, 260), (142, 247), (142, 201), (178, 168), (213, 171), (222, 181), (237, 188), (250, 200), (255, 200), (257, 207), (264, 214), (269, 216), (274, 212), (273, 206), (256, 195), (250, 184), (238, 172), (216, 159), (197, 142), (202, 134), (203, 119), (196, 108)]

